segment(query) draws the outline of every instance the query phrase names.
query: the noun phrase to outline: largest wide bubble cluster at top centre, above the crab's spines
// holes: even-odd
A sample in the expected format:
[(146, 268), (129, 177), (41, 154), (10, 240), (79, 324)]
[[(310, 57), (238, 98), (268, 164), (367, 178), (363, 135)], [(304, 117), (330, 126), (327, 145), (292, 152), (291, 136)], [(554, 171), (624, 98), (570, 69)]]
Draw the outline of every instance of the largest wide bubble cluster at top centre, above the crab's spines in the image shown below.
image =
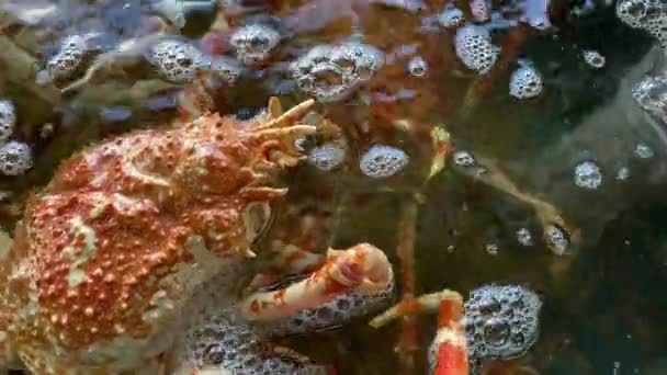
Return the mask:
[(368, 44), (318, 45), (291, 65), (298, 88), (320, 102), (348, 99), (384, 65), (384, 54)]

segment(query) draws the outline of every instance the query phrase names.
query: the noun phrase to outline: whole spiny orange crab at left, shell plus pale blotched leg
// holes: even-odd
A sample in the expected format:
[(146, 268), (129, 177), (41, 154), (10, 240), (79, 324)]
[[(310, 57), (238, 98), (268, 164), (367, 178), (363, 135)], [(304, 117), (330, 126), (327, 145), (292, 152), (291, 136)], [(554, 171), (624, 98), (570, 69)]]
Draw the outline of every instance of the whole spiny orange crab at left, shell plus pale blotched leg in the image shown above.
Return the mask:
[(286, 194), (279, 177), (302, 159), (294, 140), (316, 132), (299, 122), (313, 104), (283, 112), (272, 98), (264, 116), (247, 122), (206, 112), (65, 161), (0, 251), (0, 367), (327, 371), (271, 339), (344, 321), (386, 299), (393, 272), (385, 254), (358, 243), (291, 270), (272, 265), (297, 279), (247, 281), (262, 274), (264, 257), (253, 250), (271, 204)]

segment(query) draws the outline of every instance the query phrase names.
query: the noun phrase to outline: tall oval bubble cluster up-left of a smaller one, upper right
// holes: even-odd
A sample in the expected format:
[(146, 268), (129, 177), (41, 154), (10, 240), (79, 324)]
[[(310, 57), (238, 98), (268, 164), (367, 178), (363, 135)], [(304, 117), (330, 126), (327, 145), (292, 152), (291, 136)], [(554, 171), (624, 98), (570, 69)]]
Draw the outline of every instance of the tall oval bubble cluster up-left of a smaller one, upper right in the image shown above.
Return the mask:
[(454, 45), (461, 61), (483, 75), (490, 70), (500, 54), (500, 48), (491, 44), (489, 31), (478, 25), (468, 24), (456, 30)]

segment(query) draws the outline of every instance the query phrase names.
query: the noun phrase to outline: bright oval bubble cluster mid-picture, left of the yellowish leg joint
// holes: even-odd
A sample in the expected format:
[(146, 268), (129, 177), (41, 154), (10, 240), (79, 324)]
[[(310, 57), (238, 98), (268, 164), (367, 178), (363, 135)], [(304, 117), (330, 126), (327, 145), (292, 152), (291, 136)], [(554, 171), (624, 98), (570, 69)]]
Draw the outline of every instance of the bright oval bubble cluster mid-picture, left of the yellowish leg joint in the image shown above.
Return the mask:
[(399, 148), (375, 145), (359, 162), (361, 172), (373, 179), (383, 179), (400, 172), (409, 162), (409, 157)]

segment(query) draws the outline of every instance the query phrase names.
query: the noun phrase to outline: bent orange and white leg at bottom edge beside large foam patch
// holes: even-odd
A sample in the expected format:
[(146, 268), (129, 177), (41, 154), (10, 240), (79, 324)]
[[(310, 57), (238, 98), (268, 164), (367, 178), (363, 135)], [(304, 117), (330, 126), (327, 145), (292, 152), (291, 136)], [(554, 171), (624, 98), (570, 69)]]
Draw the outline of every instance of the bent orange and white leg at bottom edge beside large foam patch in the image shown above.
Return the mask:
[(414, 299), (400, 302), (371, 320), (378, 328), (389, 321), (416, 312), (438, 311), (438, 332), (429, 350), (433, 375), (468, 375), (465, 329), (463, 327), (463, 297), (444, 289)]

